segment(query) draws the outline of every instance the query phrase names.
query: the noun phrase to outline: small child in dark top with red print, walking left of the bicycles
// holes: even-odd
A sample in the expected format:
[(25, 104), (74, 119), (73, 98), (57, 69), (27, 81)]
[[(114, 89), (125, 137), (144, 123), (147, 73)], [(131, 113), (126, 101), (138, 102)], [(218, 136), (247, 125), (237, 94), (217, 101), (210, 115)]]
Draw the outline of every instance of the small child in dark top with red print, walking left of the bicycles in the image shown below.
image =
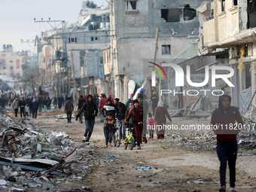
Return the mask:
[(106, 148), (108, 148), (108, 142), (109, 142), (109, 146), (112, 146), (111, 141), (113, 136), (113, 128), (114, 128), (114, 118), (112, 117), (112, 114), (108, 114), (108, 116), (105, 118), (105, 123), (103, 126)]

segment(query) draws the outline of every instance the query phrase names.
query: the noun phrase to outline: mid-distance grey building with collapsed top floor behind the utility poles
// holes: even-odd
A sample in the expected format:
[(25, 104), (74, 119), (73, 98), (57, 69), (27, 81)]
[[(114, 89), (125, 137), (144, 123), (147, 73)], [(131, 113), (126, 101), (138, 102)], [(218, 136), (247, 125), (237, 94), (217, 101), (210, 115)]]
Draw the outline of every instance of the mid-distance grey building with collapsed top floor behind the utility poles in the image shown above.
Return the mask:
[(58, 95), (73, 94), (74, 98), (105, 91), (102, 49), (110, 44), (107, 7), (83, 1), (76, 23), (44, 32), (43, 39), (50, 58), (44, 84), (51, 83)]

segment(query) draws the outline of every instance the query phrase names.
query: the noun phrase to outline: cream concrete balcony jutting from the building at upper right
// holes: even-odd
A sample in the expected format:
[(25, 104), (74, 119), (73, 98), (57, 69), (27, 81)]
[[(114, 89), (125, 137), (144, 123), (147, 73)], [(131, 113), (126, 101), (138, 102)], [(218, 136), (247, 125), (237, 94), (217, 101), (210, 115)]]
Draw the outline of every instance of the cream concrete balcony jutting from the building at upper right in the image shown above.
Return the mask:
[(214, 17), (203, 23), (203, 45), (215, 49), (254, 42), (255, 1), (216, 1)]

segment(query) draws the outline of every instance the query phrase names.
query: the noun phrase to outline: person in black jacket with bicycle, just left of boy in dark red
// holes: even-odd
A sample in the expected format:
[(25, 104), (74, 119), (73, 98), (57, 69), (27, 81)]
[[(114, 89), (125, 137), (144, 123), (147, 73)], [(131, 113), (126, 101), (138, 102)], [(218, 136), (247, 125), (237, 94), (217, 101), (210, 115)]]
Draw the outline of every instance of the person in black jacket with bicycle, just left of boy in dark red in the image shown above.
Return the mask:
[[(120, 138), (122, 138), (122, 136), (123, 136), (123, 139), (125, 139), (126, 128), (125, 128), (125, 125), (122, 123), (122, 121), (124, 120), (126, 106), (122, 102), (119, 102), (118, 98), (114, 99), (114, 105), (117, 106), (118, 124), (119, 124), (119, 126), (120, 126), (120, 124), (122, 125), (119, 129)], [(122, 127), (123, 127), (123, 131), (122, 131)]]

